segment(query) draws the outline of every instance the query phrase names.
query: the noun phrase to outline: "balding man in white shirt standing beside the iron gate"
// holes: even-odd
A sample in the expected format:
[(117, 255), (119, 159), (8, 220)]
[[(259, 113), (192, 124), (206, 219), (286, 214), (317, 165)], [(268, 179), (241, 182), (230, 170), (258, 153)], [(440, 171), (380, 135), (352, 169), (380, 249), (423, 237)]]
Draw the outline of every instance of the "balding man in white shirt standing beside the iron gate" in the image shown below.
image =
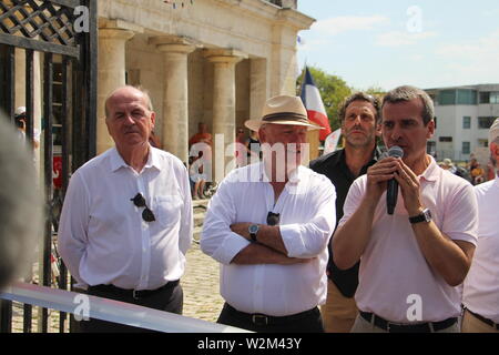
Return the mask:
[[(91, 295), (181, 314), (179, 280), (193, 229), (187, 171), (150, 145), (155, 113), (145, 92), (124, 87), (111, 93), (105, 123), (115, 146), (72, 175), (60, 254), (77, 286)], [(82, 328), (138, 331), (99, 320)]]

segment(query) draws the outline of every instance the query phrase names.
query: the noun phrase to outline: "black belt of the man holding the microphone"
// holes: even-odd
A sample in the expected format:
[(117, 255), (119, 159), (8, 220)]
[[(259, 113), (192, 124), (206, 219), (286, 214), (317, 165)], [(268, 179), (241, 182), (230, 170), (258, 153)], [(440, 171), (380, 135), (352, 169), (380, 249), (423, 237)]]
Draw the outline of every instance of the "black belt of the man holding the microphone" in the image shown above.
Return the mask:
[(455, 318), (447, 318), (441, 322), (398, 324), (384, 320), (374, 313), (363, 311), (359, 311), (359, 313), (364, 320), (366, 320), (369, 323), (374, 323), (374, 325), (376, 325), (377, 327), (387, 331), (389, 333), (432, 333), (448, 328), (449, 326), (454, 325), (457, 322), (457, 317), (455, 317)]

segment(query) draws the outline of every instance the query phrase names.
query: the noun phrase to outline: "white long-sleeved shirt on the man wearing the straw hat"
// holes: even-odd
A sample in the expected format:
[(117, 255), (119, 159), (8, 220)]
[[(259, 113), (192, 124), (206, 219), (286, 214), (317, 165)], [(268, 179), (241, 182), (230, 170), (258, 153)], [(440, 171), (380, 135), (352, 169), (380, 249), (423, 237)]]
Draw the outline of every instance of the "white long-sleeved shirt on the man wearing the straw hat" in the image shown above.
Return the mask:
[[(221, 294), (236, 310), (272, 316), (312, 310), (326, 300), (327, 243), (336, 223), (335, 187), (326, 176), (299, 166), (274, 204), (274, 190), (262, 170), (263, 163), (236, 169), (220, 184), (210, 201), (201, 248), (221, 263)], [(231, 263), (251, 243), (233, 233), (231, 225), (266, 224), (269, 211), (281, 214), (287, 256), (313, 258), (310, 262)]]

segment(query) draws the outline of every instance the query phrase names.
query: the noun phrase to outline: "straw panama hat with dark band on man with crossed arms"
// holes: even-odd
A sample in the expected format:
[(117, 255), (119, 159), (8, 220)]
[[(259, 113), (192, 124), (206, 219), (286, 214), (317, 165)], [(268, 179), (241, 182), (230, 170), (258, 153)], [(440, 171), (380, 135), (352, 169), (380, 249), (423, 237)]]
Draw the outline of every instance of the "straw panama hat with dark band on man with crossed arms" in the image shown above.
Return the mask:
[(302, 99), (289, 95), (268, 99), (263, 108), (262, 118), (247, 120), (244, 125), (257, 132), (265, 123), (305, 125), (308, 131), (323, 129), (308, 120), (307, 110), (305, 110)]

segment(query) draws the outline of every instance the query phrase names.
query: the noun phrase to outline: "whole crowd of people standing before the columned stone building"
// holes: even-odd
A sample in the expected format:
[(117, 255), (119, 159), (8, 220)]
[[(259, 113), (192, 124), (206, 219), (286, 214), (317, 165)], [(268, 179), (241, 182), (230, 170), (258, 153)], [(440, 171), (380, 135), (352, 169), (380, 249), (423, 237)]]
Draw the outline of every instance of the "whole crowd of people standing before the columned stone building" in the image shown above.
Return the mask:
[[(414, 87), (383, 100), (355, 93), (339, 111), (344, 148), (306, 168), (307, 131), (320, 128), (299, 98), (268, 99), (244, 123), (249, 138), (236, 131), (245, 146), (236, 161), (255, 159), (220, 182), (203, 225), (201, 248), (221, 264), (217, 322), (255, 332), (499, 332), (499, 178), (472, 186), (450, 161), (439, 166), (426, 152), (434, 116)], [(192, 200), (206, 178), (195, 161), (206, 151), (186, 169), (153, 148), (152, 102), (133, 87), (106, 98), (105, 123), (115, 146), (72, 175), (60, 254), (81, 292), (182, 314)], [(211, 146), (198, 129), (190, 145)], [(489, 150), (496, 168), (499, 119)]]

